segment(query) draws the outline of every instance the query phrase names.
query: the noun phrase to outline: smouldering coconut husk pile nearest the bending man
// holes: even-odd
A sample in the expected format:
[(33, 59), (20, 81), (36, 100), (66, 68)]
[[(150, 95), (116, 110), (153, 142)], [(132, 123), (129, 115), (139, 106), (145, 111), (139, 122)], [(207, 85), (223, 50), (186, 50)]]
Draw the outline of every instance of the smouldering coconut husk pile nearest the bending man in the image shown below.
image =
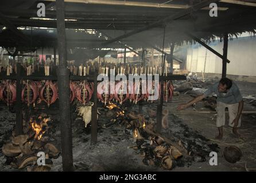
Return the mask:
[(156, 165), (164, 169), (173, 169), (176, 165), (184, 165), (184, 158), (189, 157), (182, 142), (176, 143), (154, 132), (154, 122), (145, 120), (143, 114), (130, 112), (126, 115), (124, 124), (127, 130), (132, 130), (136, 145), (130, 146), (137, 150), (145, 165)]

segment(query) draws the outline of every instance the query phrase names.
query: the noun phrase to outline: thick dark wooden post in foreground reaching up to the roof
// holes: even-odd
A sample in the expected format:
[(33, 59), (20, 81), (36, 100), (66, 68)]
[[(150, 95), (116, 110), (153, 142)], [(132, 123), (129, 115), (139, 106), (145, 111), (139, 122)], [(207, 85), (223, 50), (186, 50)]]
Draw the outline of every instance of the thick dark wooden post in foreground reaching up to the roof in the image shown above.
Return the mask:
[(72, 129), (69, 101), (69, 70), (67, 69), (67, 50), (65, 38), (65, 4), (64, 0), (56, 1), (57, 38), (59, 51), (59, 69), (57, 73), (59, 85), (59, 110), (61, 130), (62, 164), (64, 171), (73, 170)]

